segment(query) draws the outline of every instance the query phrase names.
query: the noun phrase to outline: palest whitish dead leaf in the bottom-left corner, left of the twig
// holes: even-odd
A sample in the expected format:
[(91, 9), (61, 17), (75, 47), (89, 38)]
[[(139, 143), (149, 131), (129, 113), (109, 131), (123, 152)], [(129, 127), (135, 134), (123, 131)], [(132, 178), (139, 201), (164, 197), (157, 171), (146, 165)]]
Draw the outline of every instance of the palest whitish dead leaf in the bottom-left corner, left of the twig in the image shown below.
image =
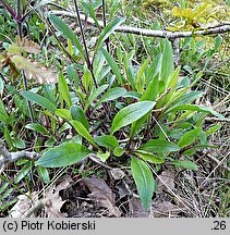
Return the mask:
[(36, 202), (38, 199), (37, 191), (34, 191), (32, 195), (29, 193), (26, 195), (20, 195), (17, 196), (17, 198), (19, 201), (13, 206), (10, 211), (11, 218), (23, 218), (24, 214), (28, 211), (28, 209), (31, 209), (34, 202)]

